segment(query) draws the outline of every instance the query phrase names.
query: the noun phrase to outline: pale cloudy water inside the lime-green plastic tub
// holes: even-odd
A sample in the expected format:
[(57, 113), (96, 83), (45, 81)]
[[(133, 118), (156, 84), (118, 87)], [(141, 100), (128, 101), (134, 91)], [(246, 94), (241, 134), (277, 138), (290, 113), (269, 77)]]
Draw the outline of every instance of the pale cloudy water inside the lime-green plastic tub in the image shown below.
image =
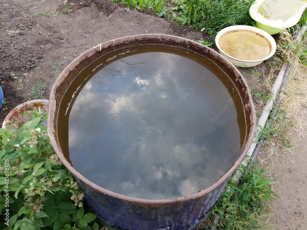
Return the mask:
[(306, 4), (307, 0), (265, 0), (258, 8), (262, 17), (285, 23), (290, 17), (296, 15)]

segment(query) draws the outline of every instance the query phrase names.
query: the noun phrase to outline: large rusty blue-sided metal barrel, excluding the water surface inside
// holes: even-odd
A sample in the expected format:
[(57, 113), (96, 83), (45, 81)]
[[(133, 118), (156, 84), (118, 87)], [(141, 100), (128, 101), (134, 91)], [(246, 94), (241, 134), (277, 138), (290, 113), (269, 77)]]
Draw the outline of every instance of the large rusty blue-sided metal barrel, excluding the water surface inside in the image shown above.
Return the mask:
[[(239, 111), (237, 109), (237, 113), (238, 119), (241, 119), (245, 124), (244, 132), (246, 135), (241, 142), (242, 151), (239, 157), (212, 186), (185, 197), (147, 200), (117, 194), (89, 181), (72, 167), (70, 160), (66, 159), (63, 154), (63, 152), (68, 151), (63, 144), (65, 141), (68, 141), (65, 138), (65, 136), (68, 136), (68, 130), (62, 124), (63, 122), (68, 122), (68, 118), (65, 118), (66, 114), (69, 114), (68, 104), (73, 103), (71, 98), (65, 98), (67, 95), (66, 91), (69, 87), (70, 89), (75, 87), (75, 91), (77, 91), (77, 84), (75, 86), (74, 81), (78, 74), (98, 58), (116, 49), (148, 44), (181, 48), (196, 55), (206, 57), (213, 69), (215, 68), (217, 72), (226, 73), (227, 81), (232, 84), (229, 91), (238, 90), (240, 102), (242, 102), (241, 109)], [(63, 103), (63, 101), (66, 101), (66, 103)], [(64, 121), (65, 119), (66, 121)], [(199, 229), (201, 224), (207, 219), (208, 214), (223, 194), (227, 180), (247, 154), (255, 133), (256, 117), (246, 81), (239, 71), (219, 53), (197, 42), (181, 37), (146, 34), (105, 42), (91, 48), (73, 60), (52, 86), (47, 124), (48, 135), (53, 149), (83, 189), (87, 204), (109, 228), (129, 230), (190, 230)]]

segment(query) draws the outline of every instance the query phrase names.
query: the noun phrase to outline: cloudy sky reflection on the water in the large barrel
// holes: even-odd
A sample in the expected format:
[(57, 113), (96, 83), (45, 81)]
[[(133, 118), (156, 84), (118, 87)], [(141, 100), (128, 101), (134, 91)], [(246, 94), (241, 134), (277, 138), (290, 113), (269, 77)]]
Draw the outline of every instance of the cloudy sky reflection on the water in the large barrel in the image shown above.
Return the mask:
[(105, 66), (69, 115), (73, 167), (130, 197), (173, 199), (208, 188), (235, 162), (239, 144), (237, 112), (223, 83), (199, 63), (169, 53)]

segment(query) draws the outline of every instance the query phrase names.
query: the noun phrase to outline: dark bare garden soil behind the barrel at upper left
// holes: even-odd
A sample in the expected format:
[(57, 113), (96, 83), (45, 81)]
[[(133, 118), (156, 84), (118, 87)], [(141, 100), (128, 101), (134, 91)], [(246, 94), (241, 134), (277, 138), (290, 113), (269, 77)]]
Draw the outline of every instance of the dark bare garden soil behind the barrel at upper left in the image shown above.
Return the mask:
[(45, 87), (44, 93), (36, 96), (49, 99), (50, 87), (59, 72), (75, 56), (97, 44), (146, 33), (191, 40), (207, 38), (206, 32), (161, 19), (152, 12), (126, 12), (120, 3), (106, 0), (68, 5), (65, 13), (62, 12), (66, 6), (58, 0), (2, 1), (1, 5), (0, 83), (7, 103), (1, 108), (0, 125), (14, 107), (36, 99), (33, 86), (38, 79)]

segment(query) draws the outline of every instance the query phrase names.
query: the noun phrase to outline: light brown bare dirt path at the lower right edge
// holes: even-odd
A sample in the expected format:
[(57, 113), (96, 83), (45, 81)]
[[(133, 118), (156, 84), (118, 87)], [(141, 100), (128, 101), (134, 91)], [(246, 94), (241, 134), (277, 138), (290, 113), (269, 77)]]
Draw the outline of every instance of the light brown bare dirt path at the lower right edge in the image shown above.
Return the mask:
[[(301, 111), (302, 121), (306, 125), (306, 106), (302, 106)], [(260, 152), (263, 151), (263, 154), (258, 158), (259, 164), (269, 164), (277, 177), (277, 184), (272, 190), (280, 198), (274, 197), (274, 202), (269, 202), (274, 214), (270, 223), (276, 224), (275, 229), (278, 230), (303, 230), (307, 229), (307, 132), (296, 125), (289, 132), (293, 148), (281, 148), (273, 137), (272, 143), (262, 147)]]

